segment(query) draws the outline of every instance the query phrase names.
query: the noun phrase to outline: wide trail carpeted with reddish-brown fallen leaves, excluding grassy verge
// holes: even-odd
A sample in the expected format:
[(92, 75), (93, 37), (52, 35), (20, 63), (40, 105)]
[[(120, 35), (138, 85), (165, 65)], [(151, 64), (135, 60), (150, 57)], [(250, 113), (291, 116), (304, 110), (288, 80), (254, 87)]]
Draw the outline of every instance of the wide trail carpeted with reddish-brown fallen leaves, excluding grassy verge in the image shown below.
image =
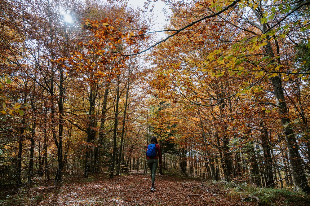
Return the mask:
[(29, 197), (24, 194), (12, 205), (256, 205), (231, 197), (222, 187), (207, 182), (157, 174), (155, 184), (156, 191), (150, 192), (149, 173), (81, 179), (32, 188)]

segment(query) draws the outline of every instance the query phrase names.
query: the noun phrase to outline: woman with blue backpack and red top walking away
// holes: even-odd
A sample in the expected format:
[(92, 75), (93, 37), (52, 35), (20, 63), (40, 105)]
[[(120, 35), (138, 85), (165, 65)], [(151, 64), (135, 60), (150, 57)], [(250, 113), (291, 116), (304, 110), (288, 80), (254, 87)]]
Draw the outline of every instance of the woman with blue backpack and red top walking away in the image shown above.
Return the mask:
[(148, 161), (148, 167), (151, 170), (151, 177), (152, 177), (151, 192), (154, 192), (156, 191), (155, 190), (155, 173), (158, 167), (158, 159), (159, 159), (159, 165), (162, 164), (162, 153), (160, 152), (160, 147), (157, 142), (157, 139), (154, 136), (151, 138), (151, 143), (147, 146), (146, 159)]

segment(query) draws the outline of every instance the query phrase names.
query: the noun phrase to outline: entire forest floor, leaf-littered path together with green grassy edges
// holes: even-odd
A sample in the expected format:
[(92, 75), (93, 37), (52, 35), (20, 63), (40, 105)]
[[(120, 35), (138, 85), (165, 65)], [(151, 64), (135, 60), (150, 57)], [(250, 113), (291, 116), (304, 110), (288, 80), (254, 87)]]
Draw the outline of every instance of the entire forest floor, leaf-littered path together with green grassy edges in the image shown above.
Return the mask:
[[(149, 173), (131, 173), (113, 179), (92, 177), (56, 186), (32, 186), (14, 193), (2, 191), (0, 205), (310, 205), (310, 196), (303, 193), (277, 190), (271, 195), (259, 188), (247, 191), (223, 182), (159, 174), (156, 191), (151, 192), (150, 179)], [(248, 195), (255, 196), (243, 198)]]

